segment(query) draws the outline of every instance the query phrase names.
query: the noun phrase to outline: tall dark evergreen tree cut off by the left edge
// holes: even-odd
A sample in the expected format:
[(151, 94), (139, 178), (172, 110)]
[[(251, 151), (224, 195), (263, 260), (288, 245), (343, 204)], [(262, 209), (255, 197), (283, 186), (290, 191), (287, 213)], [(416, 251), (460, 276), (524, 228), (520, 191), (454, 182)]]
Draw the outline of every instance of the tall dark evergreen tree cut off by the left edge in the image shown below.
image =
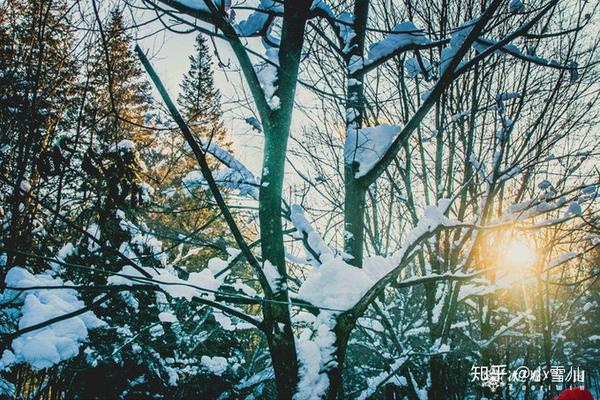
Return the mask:
[(14, 249), (18, 244), (33, 250), (37, 210), (32, 197), (45, 183), (42, 179), (64, 163), (65, 149), (53, 142), (72, 123), (76, 64), (65, 2), (18, 1), (3, 8), (0, 171), (9, 182), (2, 182), (7, 205), (2, 238), (8, 261), (22, 263)]

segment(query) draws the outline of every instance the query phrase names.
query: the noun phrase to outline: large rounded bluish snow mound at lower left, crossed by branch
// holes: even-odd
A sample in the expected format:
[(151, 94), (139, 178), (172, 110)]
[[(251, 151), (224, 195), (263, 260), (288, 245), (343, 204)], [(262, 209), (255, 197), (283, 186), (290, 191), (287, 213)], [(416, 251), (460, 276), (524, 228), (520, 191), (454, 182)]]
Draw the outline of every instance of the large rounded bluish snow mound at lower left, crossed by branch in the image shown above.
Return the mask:
[[(5, 282), (12, 288), (72, 285), (47, 274), (33, 275), (21, 267), (10, 269)], [(25, 290), (19, 294), (19, 300), (23, 301), (18, 324), (20, 330), (85, 307), (73, 289)], [(2, 363), (4, 367), (7, 363), (25, 362), (34, 370), (49, 368), (79, 354), (81, 344), (88, 337), (88, 330), (104, 325), (93, 312), (87, 311), (25, 333), (12, 341), (12, 354), (5, 351)]]

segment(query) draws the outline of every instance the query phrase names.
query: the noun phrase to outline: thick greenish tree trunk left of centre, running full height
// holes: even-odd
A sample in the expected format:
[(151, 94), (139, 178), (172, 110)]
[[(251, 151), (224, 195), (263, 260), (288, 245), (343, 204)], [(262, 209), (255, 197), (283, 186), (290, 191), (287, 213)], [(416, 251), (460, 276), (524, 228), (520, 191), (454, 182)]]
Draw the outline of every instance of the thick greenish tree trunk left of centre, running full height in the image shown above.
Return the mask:
[(291, 399), (298, 383), (298, 358), (288, 306), (281, 205), (287, 142), (310, 4), (311, 2), (303, 0), (293, 6), (285, 6), (279, 50), (278, 89), (275, 93), (281, 104), (270, 113), (271, 118), (263, 121), (265, 145), (258, 209), (261, 250), (263, 260), (277, 268), (281, 277), (272, 294), (272, 298), (278, 303), (270, 303), (264, 307), (264, 329), (280, 399)]

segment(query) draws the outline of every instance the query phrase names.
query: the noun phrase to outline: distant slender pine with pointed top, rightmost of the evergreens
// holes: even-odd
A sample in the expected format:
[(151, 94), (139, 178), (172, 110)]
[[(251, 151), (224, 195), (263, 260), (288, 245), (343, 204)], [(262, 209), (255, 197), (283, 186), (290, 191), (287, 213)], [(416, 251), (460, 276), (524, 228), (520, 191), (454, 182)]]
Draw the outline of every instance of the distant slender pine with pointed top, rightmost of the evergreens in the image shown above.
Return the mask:
[[(229, 133), (222, 122), (221, 95), (214, 86), (213, 63), (207, 41), (202, 35), (196, 37), (194, 53), (189, 60), (190, 67), (183, 76), (180, 84), (181, 93), (177, 99), (180, 110), (199, 141), (204, 144), (216, 143), (220, 147), (229, 148), (231, 146), (228, 140)], [(196, 236), (202, 237), (203, 233), (198, 232), (198, 228), (213, 219), (218, 210), (211, 204), (210, 195), (202, 189), (180, 190), (184, 186), (182, 184), (184, 177), (192, 171), (197, 171), (198, 163), (179, 131), (172, 131), (163, 136), (161, 146), (164, 151), (160, 159), (160, 167), (154, 169), (157, 176), (157, 192), (180, 193), (178, 196), (168, 196), (163, 204), (173, 209), (194, 211), (186, 212), (185, 218), (173, 218), (169, 213), (160, 213), (154, 216), (154, 227), (171, 237), (176, 237), (182, 232), (197, 232)], [(209, 162), (214, 169), (220, 167), (211, 157)], [(225, 224), (220, 220), (212, 223), (209, 229), (217, 236), (225, 236), (227, 232)], [(218, 247), (225, 250), (225, 241), (221, 240)], [(214, 246), (210, 246), (201, 251), (197, 257), (189, 258), (188, 262), (191, 265), (203, 265), (203, 261), (215, 255)]]

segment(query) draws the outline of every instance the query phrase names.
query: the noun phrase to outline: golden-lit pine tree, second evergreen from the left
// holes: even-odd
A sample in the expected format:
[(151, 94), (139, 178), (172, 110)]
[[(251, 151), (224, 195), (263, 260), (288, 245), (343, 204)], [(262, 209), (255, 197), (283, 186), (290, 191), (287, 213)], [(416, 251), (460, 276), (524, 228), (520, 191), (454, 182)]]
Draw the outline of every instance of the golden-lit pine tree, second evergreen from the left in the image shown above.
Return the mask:
[[(153, 140), (144, 126), (150, 89), (132, 50), (121, 10), (113, 9), (91, 55), (84, 126), (87, 150), (82, 168), (100, 201), (100, 223), (118, 208), (135, 207), (141, 195), (140, 165)], [(138, 151), (133, 151), (137, 149)]]

